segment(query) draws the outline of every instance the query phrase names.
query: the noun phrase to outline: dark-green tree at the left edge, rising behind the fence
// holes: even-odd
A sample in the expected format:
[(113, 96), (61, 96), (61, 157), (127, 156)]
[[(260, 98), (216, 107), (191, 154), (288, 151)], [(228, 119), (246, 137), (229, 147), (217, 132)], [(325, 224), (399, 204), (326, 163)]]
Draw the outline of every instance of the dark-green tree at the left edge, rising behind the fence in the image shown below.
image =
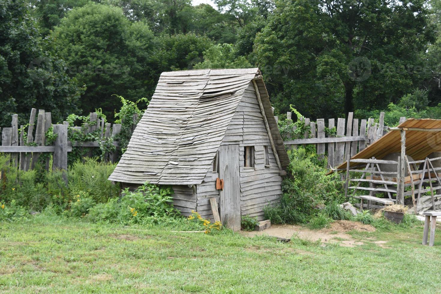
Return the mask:
[(54, 121), (77, 110), (82, 89), (65, 72), (50, 40), (41, 40), (29, 2), (0, 2), (0, 126), (19, 114), (25, 123), (30, 108), (52, 112)]

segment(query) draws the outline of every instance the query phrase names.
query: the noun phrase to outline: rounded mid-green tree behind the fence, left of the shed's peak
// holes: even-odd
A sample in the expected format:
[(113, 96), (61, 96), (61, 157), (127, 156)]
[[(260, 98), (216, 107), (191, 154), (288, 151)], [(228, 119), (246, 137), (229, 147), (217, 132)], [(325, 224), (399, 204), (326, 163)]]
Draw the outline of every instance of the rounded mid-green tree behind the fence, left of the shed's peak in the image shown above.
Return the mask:
[(87, 89), (84, 112), (101, 107), (112, 117), (119, 98), (149, 97), (156, 82), (153, 33), (143, 22), (131, 23), (119, 7), (88, 4), (75, 8), (52, 33), (68, 72)]

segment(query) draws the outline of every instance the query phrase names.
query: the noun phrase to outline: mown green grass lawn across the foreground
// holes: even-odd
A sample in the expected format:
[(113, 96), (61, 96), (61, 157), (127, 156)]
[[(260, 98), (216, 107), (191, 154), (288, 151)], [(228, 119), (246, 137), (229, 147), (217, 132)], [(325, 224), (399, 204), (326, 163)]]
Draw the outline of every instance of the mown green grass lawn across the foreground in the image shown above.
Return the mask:
[[(440, 293), (441, 232), (350, 232), (354, 248), (123, 230), (56, 216), (0, 223), (0, 292)], [(381, 247), (375, 241), (388, 241)]]

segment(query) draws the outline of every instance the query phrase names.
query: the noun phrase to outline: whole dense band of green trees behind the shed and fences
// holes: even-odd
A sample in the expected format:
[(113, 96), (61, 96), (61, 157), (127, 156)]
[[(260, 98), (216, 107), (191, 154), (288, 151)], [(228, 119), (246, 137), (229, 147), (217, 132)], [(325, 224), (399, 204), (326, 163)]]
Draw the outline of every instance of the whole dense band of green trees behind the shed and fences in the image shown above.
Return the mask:
[(280, 113), (438, 113), (438, 0), (213, 2), (0, 2), (2, 124), (31, 106), (112, 116), (113, 94), (150, 98), (162, 71), (207, 67), (259, 67)]

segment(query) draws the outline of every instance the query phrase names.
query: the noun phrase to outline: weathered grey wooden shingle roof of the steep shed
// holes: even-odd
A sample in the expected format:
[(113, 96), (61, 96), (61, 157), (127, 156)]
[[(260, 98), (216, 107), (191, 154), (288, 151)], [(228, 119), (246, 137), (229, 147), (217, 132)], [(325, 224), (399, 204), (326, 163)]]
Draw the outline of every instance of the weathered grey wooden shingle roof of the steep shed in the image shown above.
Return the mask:
[(280, 164), (289, 164), (258, 68), (163, 72), (109, 180), (200, 184), (250, 81), (256, 79)]

